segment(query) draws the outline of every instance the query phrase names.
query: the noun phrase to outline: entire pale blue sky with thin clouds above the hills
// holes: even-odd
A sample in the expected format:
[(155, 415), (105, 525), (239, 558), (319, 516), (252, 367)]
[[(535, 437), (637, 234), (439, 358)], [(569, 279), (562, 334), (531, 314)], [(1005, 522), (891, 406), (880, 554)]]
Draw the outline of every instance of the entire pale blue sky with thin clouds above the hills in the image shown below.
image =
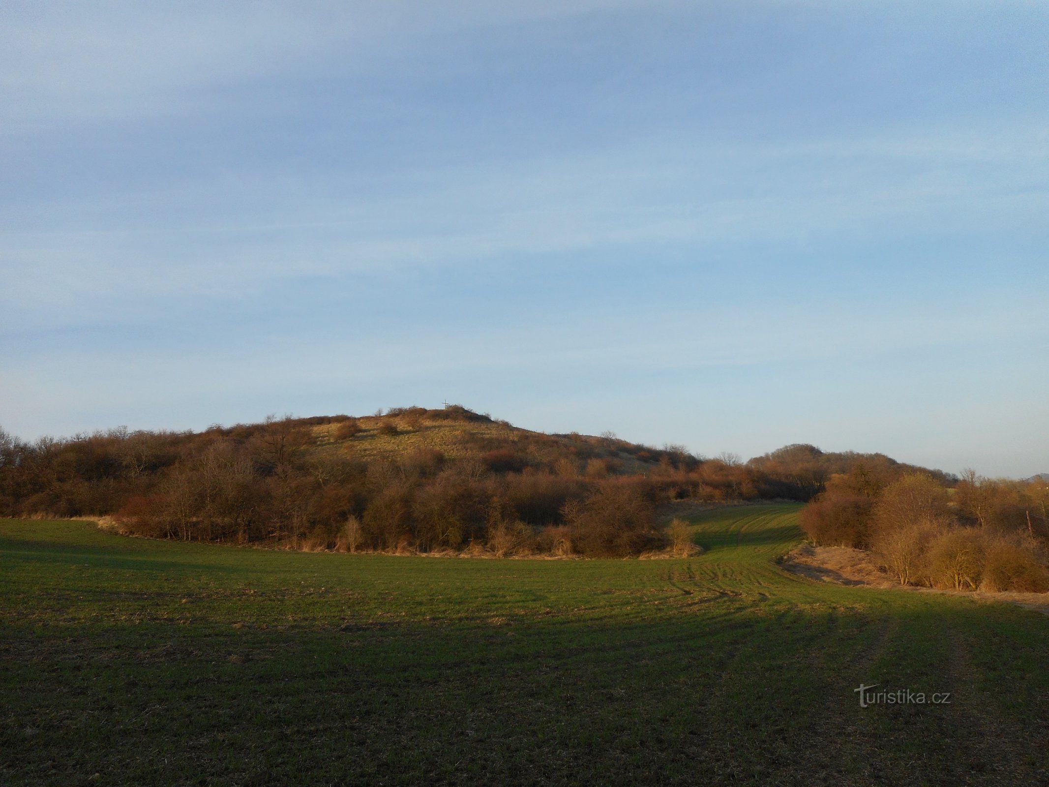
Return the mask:
[(0, 0), (0, 426), (1049, 472), (1047, 52), (1020, 0)]

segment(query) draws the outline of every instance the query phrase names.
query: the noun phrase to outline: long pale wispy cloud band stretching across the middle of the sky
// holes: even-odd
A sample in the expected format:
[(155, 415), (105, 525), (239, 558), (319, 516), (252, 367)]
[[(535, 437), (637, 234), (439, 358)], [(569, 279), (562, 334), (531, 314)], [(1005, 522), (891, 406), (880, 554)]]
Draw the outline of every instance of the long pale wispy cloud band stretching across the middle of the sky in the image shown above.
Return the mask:
[[(95, 229), (0, 231), (0, 300), (26, 315), (72, 310), (66, 319), (77, 321), (85, 316), (77, 304), (89, 315), (141, 298), (251, 297), (274, 279), (485, 265), (507, 255), (702, 248), (886, 224), (1031, 230), (1049, 212), (1045, 141), (1031, 130), (631, 147), (444, 171), (426, 188), (359, 197), (306, 197), (295, 173), (262, 171), (247, 190), (277, 196), (248, 214), (220, 182), (186, 183), (113, 195)], [(167, 218), (197, 198), (191, 222)]]

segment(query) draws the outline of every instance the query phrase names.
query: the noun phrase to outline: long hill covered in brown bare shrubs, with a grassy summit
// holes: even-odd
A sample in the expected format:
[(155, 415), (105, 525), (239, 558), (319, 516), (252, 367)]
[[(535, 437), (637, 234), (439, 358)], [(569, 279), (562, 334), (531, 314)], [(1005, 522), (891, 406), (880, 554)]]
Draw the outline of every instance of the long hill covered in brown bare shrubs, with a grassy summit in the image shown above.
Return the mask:
[[(453, 434), (453, 450), (409, 439), (427, 433)], [(386, 450), (366, 450), (374, 441)], [(676, 540), (658, 526), (668, 501), (807, 501), (864, 456), (702, 459), (457, 405), (31, 444), (0, 430), (0, 515), (111, 515), (138, 535), (296, 549), (620, 556)]]

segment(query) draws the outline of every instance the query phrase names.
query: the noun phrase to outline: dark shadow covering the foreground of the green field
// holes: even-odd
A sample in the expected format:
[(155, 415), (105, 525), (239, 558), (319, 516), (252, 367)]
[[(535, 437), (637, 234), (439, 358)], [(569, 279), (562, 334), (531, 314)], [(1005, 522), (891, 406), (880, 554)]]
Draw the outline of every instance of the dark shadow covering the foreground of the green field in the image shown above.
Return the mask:
[[(661, 608), (667, 607), (660, 604)], [(1003, 608), (1006, 610), (1006, 608)], [(735, 598), (644, 620), (7, 626), (7, 781), (1037, 784), (1042, 622)], [(989, 648), (1011, 632), (1009, 652)], [(989, 675), (992, 685), (977, 676)], [(860, 683), (950, 693), (861, 708)], [(524, 779), (522, 774), (532, 774)]]

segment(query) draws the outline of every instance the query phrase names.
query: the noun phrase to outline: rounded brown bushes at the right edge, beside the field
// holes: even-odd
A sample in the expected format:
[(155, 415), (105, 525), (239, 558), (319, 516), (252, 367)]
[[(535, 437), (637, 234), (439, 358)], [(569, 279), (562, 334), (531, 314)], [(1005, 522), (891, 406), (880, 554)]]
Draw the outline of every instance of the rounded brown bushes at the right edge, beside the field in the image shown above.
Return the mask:
[(801, 511), (818, 545), (866, 549), (902, 584), (1049, 591), (1049, 484), (859, 464)]

